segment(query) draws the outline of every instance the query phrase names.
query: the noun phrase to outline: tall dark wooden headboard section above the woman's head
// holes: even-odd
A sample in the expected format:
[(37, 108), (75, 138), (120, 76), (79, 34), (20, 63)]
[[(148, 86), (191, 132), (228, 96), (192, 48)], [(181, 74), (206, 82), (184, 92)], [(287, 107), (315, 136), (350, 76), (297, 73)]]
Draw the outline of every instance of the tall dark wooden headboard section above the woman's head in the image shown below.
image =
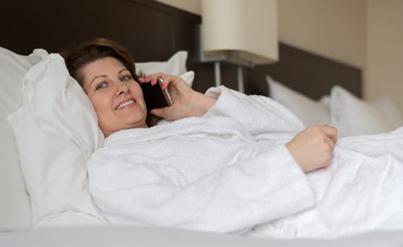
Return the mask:
[(0, 3), (2, 47), (29, 54), (58, 52), (69, 44), (109, 37), (128, 47), (136, 61), (167, 59), (186, 49), (196, 54), (200, 16), (150, 0), (37, 0)]

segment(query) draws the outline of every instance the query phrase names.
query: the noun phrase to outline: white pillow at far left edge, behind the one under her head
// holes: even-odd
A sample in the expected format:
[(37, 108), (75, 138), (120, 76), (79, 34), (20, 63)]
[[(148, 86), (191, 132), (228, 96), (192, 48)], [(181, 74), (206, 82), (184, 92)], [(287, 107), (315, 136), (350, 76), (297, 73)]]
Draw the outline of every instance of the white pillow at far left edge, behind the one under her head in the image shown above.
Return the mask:
[(0, 47), (0, 231), (31, 226), (30, 197), (18, 162), (13, 131), (7, 116), (21, 106), (25, 73), (47, 52), (35, 49), (30, 56)]

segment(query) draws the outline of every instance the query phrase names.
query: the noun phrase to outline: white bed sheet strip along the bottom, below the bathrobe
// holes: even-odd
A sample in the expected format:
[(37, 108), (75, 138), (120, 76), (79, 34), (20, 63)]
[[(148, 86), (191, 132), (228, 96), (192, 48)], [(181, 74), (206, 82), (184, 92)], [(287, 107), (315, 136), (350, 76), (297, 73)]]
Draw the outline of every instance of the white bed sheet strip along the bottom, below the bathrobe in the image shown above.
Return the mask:
[(403, 246), (403, 231), (373, 232), (339, 239), (257, 239), (156, 227), (77, 227), (2, 232), (0, 246)]

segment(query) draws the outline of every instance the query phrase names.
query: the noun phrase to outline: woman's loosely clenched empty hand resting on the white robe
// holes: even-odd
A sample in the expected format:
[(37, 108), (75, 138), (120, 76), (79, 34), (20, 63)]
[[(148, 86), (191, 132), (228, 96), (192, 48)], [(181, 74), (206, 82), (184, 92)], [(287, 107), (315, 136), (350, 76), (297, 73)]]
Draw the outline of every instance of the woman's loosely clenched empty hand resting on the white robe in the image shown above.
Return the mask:
[(312, 126), (296, 134), (286, 144), (289, 152), (305, 172), (330, 165), (337, 142), (337, 128)]

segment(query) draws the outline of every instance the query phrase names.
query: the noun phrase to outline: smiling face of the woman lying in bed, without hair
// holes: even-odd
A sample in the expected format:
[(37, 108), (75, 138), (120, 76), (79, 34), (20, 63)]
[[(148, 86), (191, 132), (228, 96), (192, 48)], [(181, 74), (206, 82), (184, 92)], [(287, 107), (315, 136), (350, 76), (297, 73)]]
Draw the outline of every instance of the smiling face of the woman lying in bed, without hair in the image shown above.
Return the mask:
[(98, 59), (82, 68), (84, 83), (104, 135), (146, 128), (147, 109), (140, 85), (118, 59)]

